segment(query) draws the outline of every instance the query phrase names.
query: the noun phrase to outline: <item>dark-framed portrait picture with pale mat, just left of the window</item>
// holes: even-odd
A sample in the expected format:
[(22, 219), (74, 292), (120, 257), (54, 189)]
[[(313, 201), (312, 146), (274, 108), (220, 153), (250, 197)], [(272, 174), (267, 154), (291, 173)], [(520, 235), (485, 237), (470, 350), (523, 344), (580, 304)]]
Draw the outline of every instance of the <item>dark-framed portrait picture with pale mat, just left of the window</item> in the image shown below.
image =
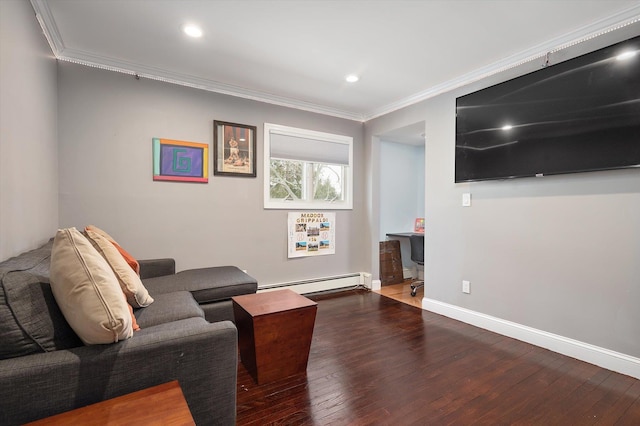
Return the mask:
[(213, 121), (213, 174), (256, 177), (256, 126)]

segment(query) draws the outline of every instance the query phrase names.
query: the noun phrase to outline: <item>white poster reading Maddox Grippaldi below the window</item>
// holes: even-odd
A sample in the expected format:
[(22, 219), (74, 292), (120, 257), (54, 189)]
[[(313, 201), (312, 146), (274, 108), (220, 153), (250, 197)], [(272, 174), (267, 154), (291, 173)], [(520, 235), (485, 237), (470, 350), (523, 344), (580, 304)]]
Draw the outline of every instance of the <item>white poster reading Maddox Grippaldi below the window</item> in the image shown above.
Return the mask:
[(288, 258), (336, 253), (336, 214), (289, 212)]

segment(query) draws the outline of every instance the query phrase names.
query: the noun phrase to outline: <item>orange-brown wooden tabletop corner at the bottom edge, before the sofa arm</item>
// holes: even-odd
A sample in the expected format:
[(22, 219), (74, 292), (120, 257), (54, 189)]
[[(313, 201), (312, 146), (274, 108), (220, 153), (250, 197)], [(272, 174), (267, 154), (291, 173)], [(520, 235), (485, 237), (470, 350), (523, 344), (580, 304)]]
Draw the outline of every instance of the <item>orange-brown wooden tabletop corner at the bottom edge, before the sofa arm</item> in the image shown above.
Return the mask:
[(29, 425), (195, 425), (177, 381), (37, 420)]

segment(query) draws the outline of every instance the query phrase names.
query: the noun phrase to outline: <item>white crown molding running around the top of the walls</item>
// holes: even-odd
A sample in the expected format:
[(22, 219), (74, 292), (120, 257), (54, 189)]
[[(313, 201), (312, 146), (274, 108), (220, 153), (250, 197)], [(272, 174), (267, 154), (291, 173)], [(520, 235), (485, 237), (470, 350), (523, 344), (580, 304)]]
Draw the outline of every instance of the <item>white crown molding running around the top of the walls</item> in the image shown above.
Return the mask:
[(273, 105), (323, 114), (347, 120), (366, 122), (374, 118), (392, 113), (402, 108), (417, 104), (434, 96), (440, 95), (482, 80), (483, 78), (498, 74), (522, 64), (544, 58), (549, 52), (557, 52), (575, 44), (598, 37), (602, 34), (614, 31), (627, 25), (640, 21), (640, 4), (631, 6), (619, 13), (607, 18), (595, 21), (589, 25), (572, 31), (564, 36), (540, 43), (532, 48), (515, 55), (511, 55), (500, 61), (479, 68), (470, 73), (448, 80), (442, 84), (433, 86), (427, 90), (418, 92), (396, 102), (384, 105), (366, 112), (346, 111), (314, 104), (299, 99), (279, 96), (272, 93), (247, 89), (214, 80), (204, 79), (191, 75), (174, 73), (167, 70), (148, 67), (132, 62), (118, 61), (95, 55), (81, 50), (69, 49), (64, 45), (60, 32), (53, 18), (49, 5), (45, 0), (30, 0), (36, 14), (36, 18), (42, 27), (42, 31), (49, 42), (49, 46), (55, 57), (62, 61), (73, 62), (85, 66), (106, 69), (129, 75), (136, 75), (151, 80), (164, 81), (186, 87), (192, 87), (209, 92), (251, 99)]

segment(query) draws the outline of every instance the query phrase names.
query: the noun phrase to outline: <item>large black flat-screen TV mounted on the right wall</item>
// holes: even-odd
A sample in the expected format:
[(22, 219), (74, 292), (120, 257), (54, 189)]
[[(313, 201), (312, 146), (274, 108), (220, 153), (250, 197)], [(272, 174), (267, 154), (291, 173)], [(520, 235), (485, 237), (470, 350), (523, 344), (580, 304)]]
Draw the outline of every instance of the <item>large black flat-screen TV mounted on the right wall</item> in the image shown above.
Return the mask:
[(456, 182), (638, 166), (640, 36), (456, 99)]

